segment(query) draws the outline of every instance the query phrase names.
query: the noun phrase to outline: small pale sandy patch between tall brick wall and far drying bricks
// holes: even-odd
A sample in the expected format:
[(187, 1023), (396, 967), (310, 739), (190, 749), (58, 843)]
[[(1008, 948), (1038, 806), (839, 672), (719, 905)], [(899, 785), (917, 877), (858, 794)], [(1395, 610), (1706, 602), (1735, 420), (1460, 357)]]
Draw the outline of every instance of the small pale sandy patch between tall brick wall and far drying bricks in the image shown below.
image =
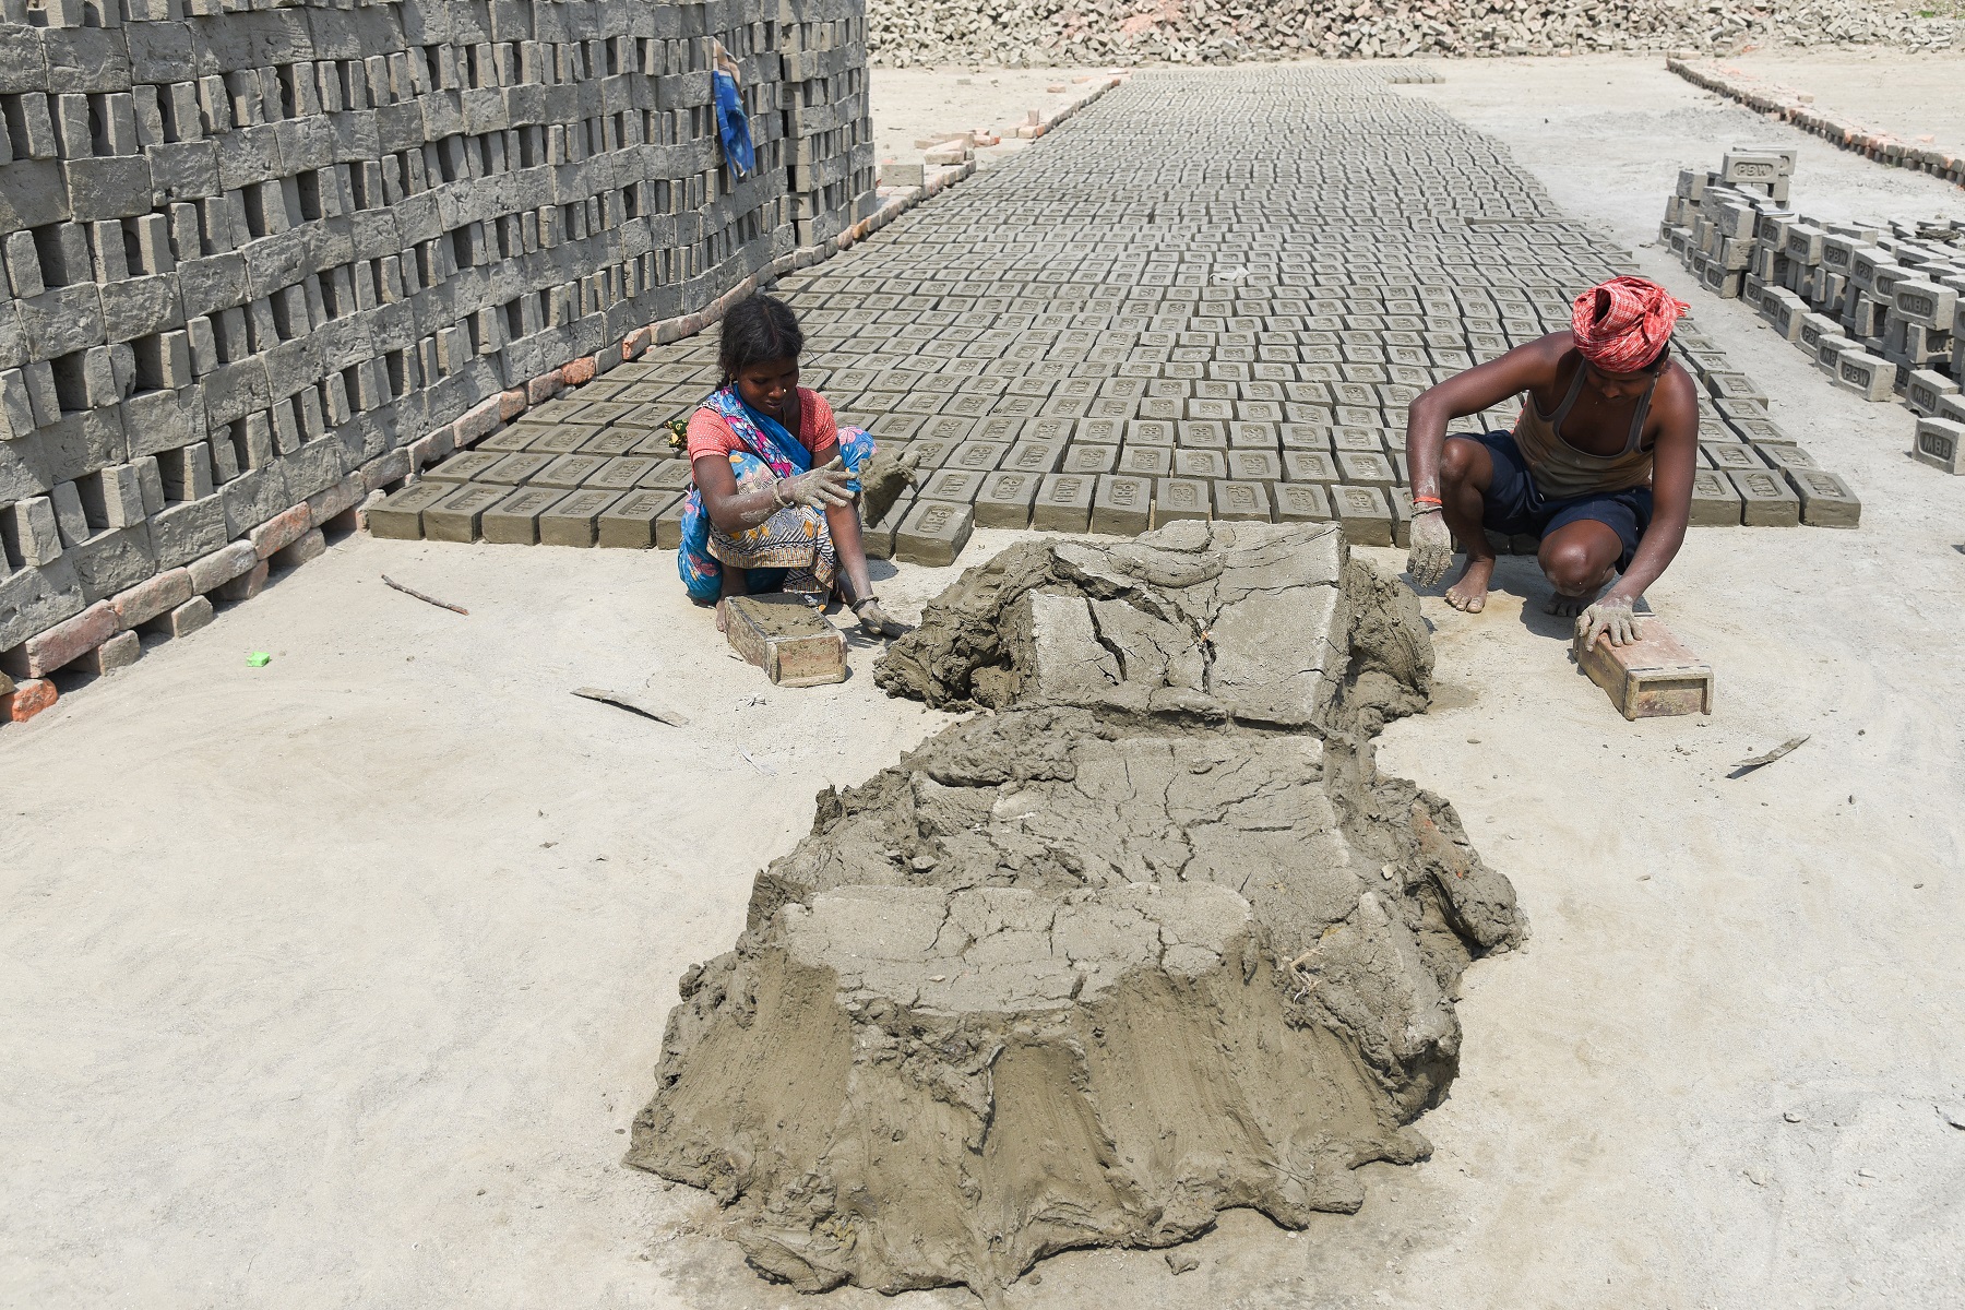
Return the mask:
[[(1085, 92), (1077, 79), (1098, 69), (971, 69), (949, 65), (941, 69), (874, 69), (869, 98), (872, 102), (872, 139), (878, 159), (920, 163), (916, 141), (953, 132), (986, 130), (1002, 137), (1000, 145), (977, 149), (977, 161), (990, 167), (1030, 141), (1016, 137), (1016, 128), (1028, 122), (1030, 110), (1053, 114)], [(1063, 90), (1051, 90), (1061, 86)]]

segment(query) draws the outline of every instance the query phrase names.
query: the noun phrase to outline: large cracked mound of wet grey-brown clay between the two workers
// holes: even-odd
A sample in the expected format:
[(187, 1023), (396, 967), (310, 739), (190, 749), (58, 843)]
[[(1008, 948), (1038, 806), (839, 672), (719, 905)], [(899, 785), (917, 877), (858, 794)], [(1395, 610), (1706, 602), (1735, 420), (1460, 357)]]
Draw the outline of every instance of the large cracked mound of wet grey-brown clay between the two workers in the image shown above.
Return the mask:
[(819, 795), (684, 976), (629, 1163), (802, 1290), (990, 1294), (1226, 1208), (1356, 1210), (1358, 1165), (1429, 1151), (1460, 972), (1527, 931), (1452, 807), (1374, 768), (1431, 662), (1336, 528), (971, 570), (876, 680), (992, 713)]

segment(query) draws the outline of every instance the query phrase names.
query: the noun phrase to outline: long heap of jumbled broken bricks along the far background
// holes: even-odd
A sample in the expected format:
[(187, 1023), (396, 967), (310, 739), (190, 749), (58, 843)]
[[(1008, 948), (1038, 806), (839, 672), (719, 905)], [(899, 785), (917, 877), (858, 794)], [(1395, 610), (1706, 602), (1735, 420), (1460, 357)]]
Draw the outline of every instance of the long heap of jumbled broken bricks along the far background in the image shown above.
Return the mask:
[(1961, 24), (1865, 0), (872, 0), (876, 65), (1230, 63), (1409, 55), (1735, 51), (1743, 45), (1943, 47)]

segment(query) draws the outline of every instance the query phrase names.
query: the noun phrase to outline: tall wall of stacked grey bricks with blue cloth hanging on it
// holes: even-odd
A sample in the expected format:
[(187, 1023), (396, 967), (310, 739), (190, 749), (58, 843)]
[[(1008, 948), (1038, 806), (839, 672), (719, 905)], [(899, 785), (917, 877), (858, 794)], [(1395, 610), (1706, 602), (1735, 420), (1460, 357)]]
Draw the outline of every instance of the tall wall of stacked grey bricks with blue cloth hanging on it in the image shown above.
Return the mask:
[(621, 361), (872, 192), (859, 0), (4, 0), (0, 666), (253, 591), (460, 414)]

